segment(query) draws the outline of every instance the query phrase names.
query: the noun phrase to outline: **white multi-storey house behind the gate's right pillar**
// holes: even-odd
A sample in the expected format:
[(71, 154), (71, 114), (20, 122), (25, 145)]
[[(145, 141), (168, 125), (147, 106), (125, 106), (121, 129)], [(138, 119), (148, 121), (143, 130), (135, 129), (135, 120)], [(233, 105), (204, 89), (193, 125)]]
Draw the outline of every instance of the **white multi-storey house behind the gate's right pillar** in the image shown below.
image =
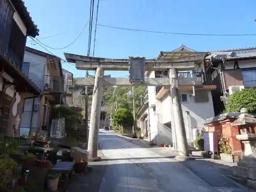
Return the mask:
[[(197, 55), (199, 52), (181, 45), (172, 52), (161, 52), (157, 58), (177, 58)], [(201, 66), (203, 60), (198, 60)], [(200, 67), (198, 67), (200, 68)], [(179, 71), (178, 86), (188, 144), (193, 145), (193, 128), (203, 126), (204, 119), (214, 116), (211, 91), (216, 89), (202, 69)], [(168, 71), (151, 71), (150, 78), (168, 77)], [(186, 84), (184, 82), (193, 82)], [(159, 144), (169, 144), (177, 148), (175, 120), (173, 119), (172, 97), (169, 86), (148, 87), (148, 105), (140, 112), (139, 126), (148, 134), (148, 140)], [(147, 129), (145, 131), (145, 129)]]

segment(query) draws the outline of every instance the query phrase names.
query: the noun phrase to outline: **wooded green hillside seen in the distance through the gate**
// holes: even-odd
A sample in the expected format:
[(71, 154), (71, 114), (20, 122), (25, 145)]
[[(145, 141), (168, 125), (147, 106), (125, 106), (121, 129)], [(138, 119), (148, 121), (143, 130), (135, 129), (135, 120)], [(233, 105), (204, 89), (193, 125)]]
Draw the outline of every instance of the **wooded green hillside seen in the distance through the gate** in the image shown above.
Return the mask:
[[(77, 77), (80, 78), (80, 77)], [(74, 78), (76, 81), (77, 78)], [(139, 107), (141, 106), (141, 102), (143, 103), (143, 97), (140, 97), (144, 93), (146, 87), (135, 87), (135, 108), (136, 112), (138, 111)], [(92, 95), (93, 87), (88, 88), (89, 95)], [(133, 96), (127, 96), (127, 93), (129, 91), (132, 91), (132, 87), (104, 87), (103, 90), (103, 97), (102, 97), (102, 104), (108, 106), (107, 113), (110, 114), (111, 107), (114, 111), (116, 105), (118, 105), (118, 108), (127, 108), (133, 111)], [(82, 88), (78, 88), (74, 86), (73, 89), (73, 95), (74, 95), (74, 106), (81, 106), (83, 105), (83, 95), (80, 95), (79, 93), (82, 92)], [(118, 101), (118, 102), (116, 102)]]

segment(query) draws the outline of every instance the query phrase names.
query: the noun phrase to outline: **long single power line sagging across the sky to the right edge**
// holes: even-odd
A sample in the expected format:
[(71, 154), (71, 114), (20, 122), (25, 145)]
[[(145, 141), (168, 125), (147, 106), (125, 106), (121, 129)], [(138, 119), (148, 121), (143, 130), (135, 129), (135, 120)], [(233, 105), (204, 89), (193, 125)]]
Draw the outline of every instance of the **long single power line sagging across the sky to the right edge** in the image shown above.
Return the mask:
[[(96, 25), (96, 24), (94, 24)], [(141, 29), (131, 29), (131, 28), (123, 28), (109, 25), (101, 25), (97, 24), (97, 26), (120, 29), (126, 31), (136, 31), (136, 32), (146, 32), (146, 33), (161, 33), (161, 34), (172, 34), (172, 35), (195, 35), (195, 36), (256, 36), (256, 34), (206, 34), (206, 33), (175, 33), (175, 32), (164, 32), (164, 31), (149, 31), (149, 30), (141, 30)]]

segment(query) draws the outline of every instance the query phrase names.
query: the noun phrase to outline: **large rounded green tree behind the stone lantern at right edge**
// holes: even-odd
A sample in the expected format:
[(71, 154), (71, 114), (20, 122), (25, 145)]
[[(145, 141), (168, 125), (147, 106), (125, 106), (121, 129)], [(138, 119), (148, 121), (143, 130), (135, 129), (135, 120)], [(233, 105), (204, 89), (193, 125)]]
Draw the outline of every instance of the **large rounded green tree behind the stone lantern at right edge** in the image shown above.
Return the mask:
[(256, 88), (247, 88), (230, 95), (225, 104), (226, 112), (240, 112), (247, 108), (249, 113), (256, 112)]

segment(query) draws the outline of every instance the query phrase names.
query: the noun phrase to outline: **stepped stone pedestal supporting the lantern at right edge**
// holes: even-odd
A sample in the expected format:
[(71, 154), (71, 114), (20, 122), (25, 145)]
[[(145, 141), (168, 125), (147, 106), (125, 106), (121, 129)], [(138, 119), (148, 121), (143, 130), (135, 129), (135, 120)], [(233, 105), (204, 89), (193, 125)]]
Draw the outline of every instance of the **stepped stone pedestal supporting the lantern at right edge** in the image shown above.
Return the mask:
[(233, 176), (241, 183), (256, 189), (256, 134), (237, 135), (244, 143), (244, 155), (238, 166), (233, 166)]

